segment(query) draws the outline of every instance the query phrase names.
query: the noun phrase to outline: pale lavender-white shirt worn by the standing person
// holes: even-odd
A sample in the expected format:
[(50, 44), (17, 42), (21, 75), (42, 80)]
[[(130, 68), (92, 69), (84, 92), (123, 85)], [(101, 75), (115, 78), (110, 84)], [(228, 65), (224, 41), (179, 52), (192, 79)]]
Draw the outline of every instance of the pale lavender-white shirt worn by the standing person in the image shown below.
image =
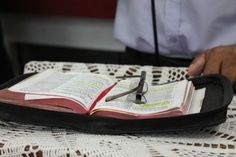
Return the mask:
[[(236, 43), (236, 0), (156, 0), (159, 50), (192, 58), (208, 48)], [(119, 0), (115, 37), (154, 53), (151, 0)]]

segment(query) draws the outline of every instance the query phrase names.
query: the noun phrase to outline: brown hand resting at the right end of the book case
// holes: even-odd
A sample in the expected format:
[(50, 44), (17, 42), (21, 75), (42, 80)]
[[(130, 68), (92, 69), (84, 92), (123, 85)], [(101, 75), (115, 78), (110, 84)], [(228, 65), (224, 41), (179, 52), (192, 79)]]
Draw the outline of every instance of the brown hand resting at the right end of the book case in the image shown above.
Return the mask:
[(188, 75), (200, 74), (222, 74), (236, 89), (236, 45), (218, 46), (197, 56), (188, 68)]

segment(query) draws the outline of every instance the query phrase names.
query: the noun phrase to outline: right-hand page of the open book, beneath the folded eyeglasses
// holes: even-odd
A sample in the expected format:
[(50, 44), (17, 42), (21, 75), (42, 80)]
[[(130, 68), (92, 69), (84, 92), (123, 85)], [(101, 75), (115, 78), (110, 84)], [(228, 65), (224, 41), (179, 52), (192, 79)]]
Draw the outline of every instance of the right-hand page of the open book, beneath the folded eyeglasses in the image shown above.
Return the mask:
[[(115, 95), (129, 90), (130, 81), (121, 81), (107, 96)], [(152, 114), (170, 109), (180, 108), (185, 99), (185, 90), (189, 89), (189, 81), (183, 80), (163, 85), (149, 86), (145, 94), (145, 104), (135, 104), (124, 96), (109, 102), (103, 98), (94, 108), (96, 111), (118, 111), (132, 114)]]

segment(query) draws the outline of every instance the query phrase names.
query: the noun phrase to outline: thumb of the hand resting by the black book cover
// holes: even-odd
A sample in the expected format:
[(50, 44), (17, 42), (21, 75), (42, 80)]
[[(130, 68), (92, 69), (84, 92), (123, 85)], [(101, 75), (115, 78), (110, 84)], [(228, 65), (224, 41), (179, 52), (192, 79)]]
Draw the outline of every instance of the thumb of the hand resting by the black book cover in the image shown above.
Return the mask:
[(200, 75), (204, 70), (205, 63), (206, 63), (206, 53), (202, 53), (201, 55), (197, 56), (188, 67), (188, 75), (189, 76)]

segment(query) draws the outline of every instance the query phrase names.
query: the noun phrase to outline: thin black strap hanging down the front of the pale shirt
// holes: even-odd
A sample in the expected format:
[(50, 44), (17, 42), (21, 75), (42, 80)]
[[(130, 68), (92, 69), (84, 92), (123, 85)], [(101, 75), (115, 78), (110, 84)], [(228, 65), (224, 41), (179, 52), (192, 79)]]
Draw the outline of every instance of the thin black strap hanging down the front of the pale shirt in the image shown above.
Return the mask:
[(151, 11), (152, 11), (152, 27), (153, 27), (153, 39), (154, 39), (154, 49), (157, 59), (157, 65), (159, 63), (159, 47), (158, 47), (158, 36), (157, 36), (157, 21), (156, 21), (156, 6), (155, 0), (151, 0)]

